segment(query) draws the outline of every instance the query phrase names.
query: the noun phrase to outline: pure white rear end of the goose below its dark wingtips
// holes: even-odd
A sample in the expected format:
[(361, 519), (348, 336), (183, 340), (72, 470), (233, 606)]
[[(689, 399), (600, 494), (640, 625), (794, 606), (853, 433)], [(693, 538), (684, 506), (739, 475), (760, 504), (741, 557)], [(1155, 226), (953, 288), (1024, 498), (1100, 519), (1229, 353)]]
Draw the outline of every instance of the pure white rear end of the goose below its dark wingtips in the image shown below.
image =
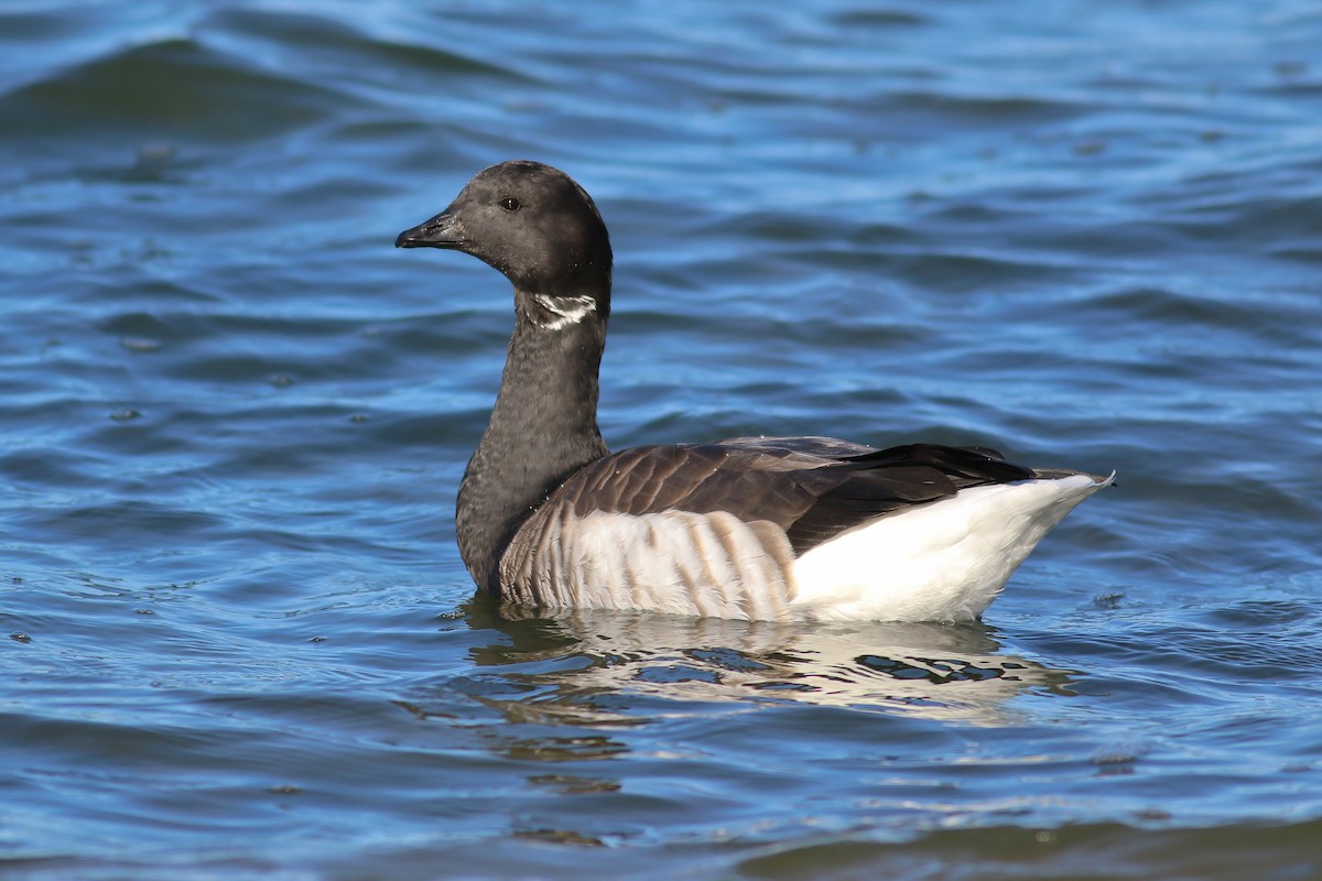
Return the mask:
[(1071, 474), (976, 486), (849, 530), (795, 563), (792, 616), (974, 618), (1038, 542), (1112, 477)]

